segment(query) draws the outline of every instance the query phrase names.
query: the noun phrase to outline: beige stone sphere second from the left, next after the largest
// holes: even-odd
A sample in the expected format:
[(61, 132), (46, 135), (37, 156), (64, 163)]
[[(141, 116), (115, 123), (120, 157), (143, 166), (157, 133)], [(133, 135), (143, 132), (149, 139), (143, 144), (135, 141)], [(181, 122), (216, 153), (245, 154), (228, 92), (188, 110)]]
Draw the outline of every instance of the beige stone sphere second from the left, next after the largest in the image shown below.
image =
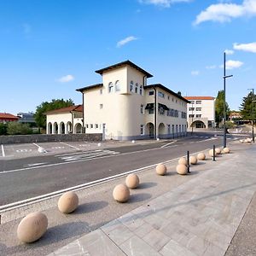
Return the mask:
[(61, 195), (58, 201), (58, 208), (62, 213), (73, 212), (79, 206), (79, 196), (73, 191)]

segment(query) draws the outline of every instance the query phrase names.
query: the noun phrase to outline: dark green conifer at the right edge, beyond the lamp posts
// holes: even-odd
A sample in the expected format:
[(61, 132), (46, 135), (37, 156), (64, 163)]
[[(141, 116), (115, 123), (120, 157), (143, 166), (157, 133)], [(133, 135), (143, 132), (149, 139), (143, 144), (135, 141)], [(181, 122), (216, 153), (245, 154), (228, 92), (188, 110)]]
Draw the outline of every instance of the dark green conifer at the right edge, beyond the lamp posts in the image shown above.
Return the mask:
[[(253, 106), (253, 104), (254, 104), (254, 106)], [(253, 109), (253, 107), (254, 107), (254, 109)], [(255, 117), (256, 117), (255, 96), (253, 96), (252, 91), (249, 92), (249, 94), (247, 96), (242, 98), (240, 110), (241, 110), (242, 119), (244, 119), (244, 120), (255, 119)]]

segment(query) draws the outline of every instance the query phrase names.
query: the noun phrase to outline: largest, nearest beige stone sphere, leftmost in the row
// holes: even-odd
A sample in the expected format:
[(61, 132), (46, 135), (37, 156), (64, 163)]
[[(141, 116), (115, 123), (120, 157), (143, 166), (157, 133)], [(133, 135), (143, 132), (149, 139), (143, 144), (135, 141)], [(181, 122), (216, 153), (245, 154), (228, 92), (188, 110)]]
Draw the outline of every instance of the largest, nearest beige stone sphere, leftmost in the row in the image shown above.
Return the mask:
[(17, 236), (20, 241), (37, 241), (47, 230), (48, 219), (42, 212), (32, 212), (22, 218), (17, 229)]

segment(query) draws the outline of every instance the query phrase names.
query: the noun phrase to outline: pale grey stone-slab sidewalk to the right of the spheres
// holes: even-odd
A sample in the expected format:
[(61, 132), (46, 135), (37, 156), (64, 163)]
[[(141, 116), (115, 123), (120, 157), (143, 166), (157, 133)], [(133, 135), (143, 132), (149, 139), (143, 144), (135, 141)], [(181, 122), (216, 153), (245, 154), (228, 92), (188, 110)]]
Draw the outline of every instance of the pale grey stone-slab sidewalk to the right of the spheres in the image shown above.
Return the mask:
[(256, 190), (256, 147), (236, 147), (207, 172), (49, 255), (224, 255)]

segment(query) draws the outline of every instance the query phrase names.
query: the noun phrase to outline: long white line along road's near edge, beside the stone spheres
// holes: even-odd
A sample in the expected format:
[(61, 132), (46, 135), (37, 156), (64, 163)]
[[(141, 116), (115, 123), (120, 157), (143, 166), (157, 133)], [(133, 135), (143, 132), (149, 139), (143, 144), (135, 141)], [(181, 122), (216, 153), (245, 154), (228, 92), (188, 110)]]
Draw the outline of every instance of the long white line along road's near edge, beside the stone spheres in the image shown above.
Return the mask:
[[(209, 149), (211, 149), (211, 148), (206, 148), (202, 151), (207, 151)], [(198, 152), (195, 152), (193, 154), (198, 154), (198, 153), (201, 153), (202, 151), (198, 151)], [(193, 154), (190, 154), (190, 155), (193, 155)], [(186, 155), (184, 155), (184, 156), (186, 156)], [(174, 158), (172, 160), (167, 160), (165, 162), (160, 162), (160, 163), (162, 163), (162, 164), (172, 163), (173, 161), (176, 161), (178, 159), (179, 159), (179, 157)], [(160, 163), (150, 165), (150, 166), (144, 166), (144, 167), (137, 168), (137, 169), (134, 169), (134, 170), (131, 170), (131, 171), (128, 171), (128, 172), (119, 173), (119, 174), (116, 174), (116, 175), (113, 175), (113, 176), (110, 176), (110, 177), (103, 177), (101, 179), (92, 181), (90, 183), (83, 183), (83, 184), (80, 184), (80, 185), (77, 185), (77, 186), (74, 186), (74, 187), (70, 187), (70, 188), (67, 188), (67, 189), (61, 189), (61, 190), (58, 190), (58, 191), (55, 191), (55, 192), (51, 192), (49, 194), (38, 195), (36, 197), (32, 197), (32, 198), (22, 200), (22, 201), (15, 201), (15, 202), (10, 203), (8, 205), (1, 206), (0, 207), (0, 213), (1, 212), (7, 212), (9, 210), (13, 210), (13, 209), (18, 208), (18, 207), (26, 207), (26, 206), (31, 205), (31, 204), (33, 204), (35, 202), (38, 202), (38, 201), (48, 200), (50, 198), (54, 198), (56, 196), (59, 196), (62, 193), (67, 192), (67, 191), (71, 191), (71, 190), (76, 191), (76, 190), (80, 190), (80, 189), (86, 189), (86, 188), (90, 188), (90, 187), (93, 187), (93, 186), (101, 184), (101, 183), (107, 183), (108, 181), (117, 179), (119, 177), (124, 177), (124, 176), (126, 176), (127, 174), (130, 174), (130, 173), (143, 172), (144, 170), (155, 167), (155, 166), (159, 165)]]

